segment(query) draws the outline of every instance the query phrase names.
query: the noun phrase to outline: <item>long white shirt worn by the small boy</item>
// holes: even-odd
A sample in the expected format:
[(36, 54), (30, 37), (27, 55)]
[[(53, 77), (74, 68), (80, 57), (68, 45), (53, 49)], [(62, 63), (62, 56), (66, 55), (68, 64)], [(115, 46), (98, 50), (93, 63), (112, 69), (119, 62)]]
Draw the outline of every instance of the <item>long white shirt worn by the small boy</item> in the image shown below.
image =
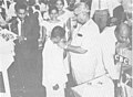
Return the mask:
[(44, 86), (64, 85), (68, 80), (66, 71), (63, 64), (63, 50), (47, 40), (43, 50), (43, 78)]

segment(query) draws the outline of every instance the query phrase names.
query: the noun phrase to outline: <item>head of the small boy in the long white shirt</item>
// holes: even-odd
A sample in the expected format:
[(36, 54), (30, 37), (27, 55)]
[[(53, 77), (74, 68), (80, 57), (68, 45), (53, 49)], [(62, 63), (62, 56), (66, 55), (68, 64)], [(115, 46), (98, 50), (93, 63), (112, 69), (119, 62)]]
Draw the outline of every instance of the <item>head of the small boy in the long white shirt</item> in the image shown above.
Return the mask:
[(59, 43), (65, 36), (65, 30), (62, 26), (54, 26), (51, 32), (51, 40), (53, 43)]

